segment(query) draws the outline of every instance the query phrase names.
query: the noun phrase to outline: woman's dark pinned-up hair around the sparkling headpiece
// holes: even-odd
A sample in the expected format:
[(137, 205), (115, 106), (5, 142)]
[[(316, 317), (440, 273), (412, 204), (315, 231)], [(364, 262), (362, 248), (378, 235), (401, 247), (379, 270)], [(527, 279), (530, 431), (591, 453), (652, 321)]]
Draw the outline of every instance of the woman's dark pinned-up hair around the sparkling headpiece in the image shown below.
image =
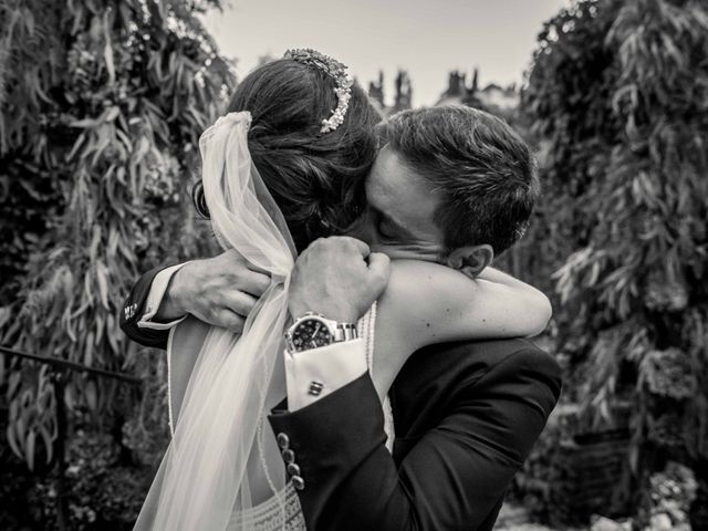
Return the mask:
[[(267, 63), (238, 85), (227, 112), (249, 111), (248, 146), (295, 247), (340, 232), (357, 216), (377, 150), (381, 116), (355, 83), (344, 123), (320, 133), (337, 106), (335, 81), (292, 59)], [(209, 217), (199, 183), (192, 199)]]

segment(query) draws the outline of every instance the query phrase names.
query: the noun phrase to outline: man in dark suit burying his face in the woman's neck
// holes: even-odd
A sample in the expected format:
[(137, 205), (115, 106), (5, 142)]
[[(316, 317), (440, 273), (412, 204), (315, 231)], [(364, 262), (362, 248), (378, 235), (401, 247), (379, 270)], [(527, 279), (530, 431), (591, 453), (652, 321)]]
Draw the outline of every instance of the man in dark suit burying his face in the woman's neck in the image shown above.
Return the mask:
[[(386, 135), (389, 144), (367, 183), (367, 200), (378, 219), (367, 220), (362, 232), (375, 250), (386, 247), (393, 254), (420, 257), (447, 247), (447, 237), (462, 230), (478, 230), (491, 247), (503, 249), (509, 241), (500, 235), (509, 233), (509, 223), (516, 229), (525, 225), (530, 210), (522, 205), (529, 200), (523, 190), (532, 188), (534, 176), (527, 170), (528, 152), (518, 137), (499, 122), (476, 115), (478, 152), (470, 154), (446, 113), (409, 112), (385, 126), (393, 137)], [(398, 132), (416, 132), (404, 143), (395, 138), (402, 121)], [(455, 219), (430, 214), (437, 208), (415, 208), (441, 201), (437, 194), (416, 190), (416, 179), (431, 173), (454, 177), (469, 167), (470, 157), (488, 168), (491, 189), (508, 199), (499, 201), (503, 209), (491, 211), (478, 199), (472, 205), (477, 226), (455, 230)], [(402, 209), (399, 196), (382, 191), (391, 189), (392, 175), (404, 187), (409, 179), (408, 209)], [(444, 214), (449, 218), (454, 211)], [(398, 219), (387, 218), (389, 214)], [(441, 223), (451, 230), (440, 231)], [(395, 241), (405, 244), (391, 243)], [(293, 271), (291, 313), (356, 322), (385, 287), (385, 267), (369, 251), (351, 238), (312, 244)], [(470, 257), (470, 268), (473, 261)], [(174, 323), (156, 321), (191, 313), (238, 327), (268, 284), (232, 252), (154, 270), (128, 296), (122, 326), (134, 340), (163, 347)], [(560, 371), (553, 358), (524, 340), (440, 344), (415, 353), (389, 393), (396, 431), (392, 455), (385, 447), (381, 402), (361, 363), (361, 340), (314, 345), (316, 341), (293, 353), (288, 404), (270, 417), (308, 528), (491, 530), (511, 478), (558, 399)]]

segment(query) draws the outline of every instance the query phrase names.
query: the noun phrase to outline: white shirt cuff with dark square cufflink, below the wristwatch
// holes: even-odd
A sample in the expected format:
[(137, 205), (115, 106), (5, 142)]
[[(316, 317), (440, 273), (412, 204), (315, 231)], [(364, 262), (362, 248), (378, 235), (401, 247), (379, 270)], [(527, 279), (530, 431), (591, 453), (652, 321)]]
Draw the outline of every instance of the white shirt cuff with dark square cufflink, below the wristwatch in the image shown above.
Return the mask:
[(354, 382), (367, 369), (363, 339), (292, 354), (285, 351), (288, 410), (296, 412), (315, 403)]

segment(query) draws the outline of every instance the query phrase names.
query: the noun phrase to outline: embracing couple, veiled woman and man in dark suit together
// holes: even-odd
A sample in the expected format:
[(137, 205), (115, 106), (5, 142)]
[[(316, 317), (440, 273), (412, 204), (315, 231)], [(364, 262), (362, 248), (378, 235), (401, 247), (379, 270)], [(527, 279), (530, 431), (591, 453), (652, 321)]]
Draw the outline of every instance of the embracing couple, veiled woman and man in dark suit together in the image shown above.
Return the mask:
[(312, 50), (229, 111), (194, 194), (225, 252), (147, 272), (121, 320), (168, 351), (136, 529), (491, 530), (561, 387), (523, 339), (548, 299), (489, 266), (538, 195), (528, 146), (470, 107), (379, 122)]

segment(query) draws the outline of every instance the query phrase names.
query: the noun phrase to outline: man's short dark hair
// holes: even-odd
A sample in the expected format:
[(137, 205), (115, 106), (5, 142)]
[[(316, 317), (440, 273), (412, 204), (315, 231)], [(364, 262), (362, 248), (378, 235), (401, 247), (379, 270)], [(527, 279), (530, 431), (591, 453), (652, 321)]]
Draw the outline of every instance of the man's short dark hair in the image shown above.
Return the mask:
[(447, 105), (397, 113), (379, 135), (442, 197), (435, 221), (448, 251), (488, 243), (499, 254), (521, 238), (539, 179), (529, 146), (504, 121)]

